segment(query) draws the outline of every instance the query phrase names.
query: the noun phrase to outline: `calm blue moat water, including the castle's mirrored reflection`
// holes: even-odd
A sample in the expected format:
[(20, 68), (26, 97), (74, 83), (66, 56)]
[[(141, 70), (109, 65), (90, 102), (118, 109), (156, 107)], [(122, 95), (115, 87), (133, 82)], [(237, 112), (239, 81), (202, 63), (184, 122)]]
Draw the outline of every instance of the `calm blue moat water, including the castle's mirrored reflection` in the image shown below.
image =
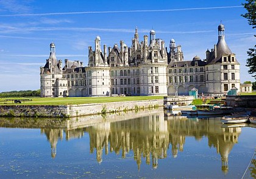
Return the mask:
[[(0, 178), (241, 178), (255, 126), (163, 109), (72, 120), (0, 118)], [(256, 162), (246, 178), (255, 178)]]

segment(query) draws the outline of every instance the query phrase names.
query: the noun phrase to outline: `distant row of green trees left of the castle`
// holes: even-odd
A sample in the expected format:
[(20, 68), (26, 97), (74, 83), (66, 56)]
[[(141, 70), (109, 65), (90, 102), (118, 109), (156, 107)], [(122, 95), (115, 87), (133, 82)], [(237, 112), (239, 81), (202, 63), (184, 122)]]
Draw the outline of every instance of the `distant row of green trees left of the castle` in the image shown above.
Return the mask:
[(21, 91), (11, 91), (11, 92), (1, 92), (0, 97), (12, 97), (12, 96), (40, 96), (40, 89), (38, 90), (21, 90)]

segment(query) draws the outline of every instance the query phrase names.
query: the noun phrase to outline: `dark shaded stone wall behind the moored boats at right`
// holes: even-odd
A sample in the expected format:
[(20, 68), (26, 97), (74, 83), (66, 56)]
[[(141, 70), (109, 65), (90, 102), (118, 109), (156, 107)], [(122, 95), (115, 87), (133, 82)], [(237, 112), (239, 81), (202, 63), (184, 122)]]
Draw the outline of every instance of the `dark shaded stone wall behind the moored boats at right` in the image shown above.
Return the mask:
[(226, 104), (230, 107), (256, 108), (256, 95), (226, 96)]

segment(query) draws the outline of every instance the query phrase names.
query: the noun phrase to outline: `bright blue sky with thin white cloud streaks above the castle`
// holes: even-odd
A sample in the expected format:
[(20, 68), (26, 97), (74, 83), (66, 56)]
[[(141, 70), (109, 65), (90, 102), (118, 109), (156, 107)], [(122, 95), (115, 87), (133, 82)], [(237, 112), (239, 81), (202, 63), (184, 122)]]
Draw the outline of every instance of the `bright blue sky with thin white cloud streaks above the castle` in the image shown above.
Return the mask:
[[(0, 0), (0, 92), (40, 89), (40, 66), (54, 42), (57, 59), (88, 65), (88, 46), (123, 40), (131, 46), (135, 27), (140, 41), (155, 30), (169, 47), (174, 38), (185, 60), (205, 59), (225, 25), (226, 42), (240, 62), (240, 80), (255, 81), (247, 72), (247, 50), (256, 43), (255, 30), (241, 14), (244, 1), (74, 1)], [(168, 48), (169, 50), (169, 48)]]

